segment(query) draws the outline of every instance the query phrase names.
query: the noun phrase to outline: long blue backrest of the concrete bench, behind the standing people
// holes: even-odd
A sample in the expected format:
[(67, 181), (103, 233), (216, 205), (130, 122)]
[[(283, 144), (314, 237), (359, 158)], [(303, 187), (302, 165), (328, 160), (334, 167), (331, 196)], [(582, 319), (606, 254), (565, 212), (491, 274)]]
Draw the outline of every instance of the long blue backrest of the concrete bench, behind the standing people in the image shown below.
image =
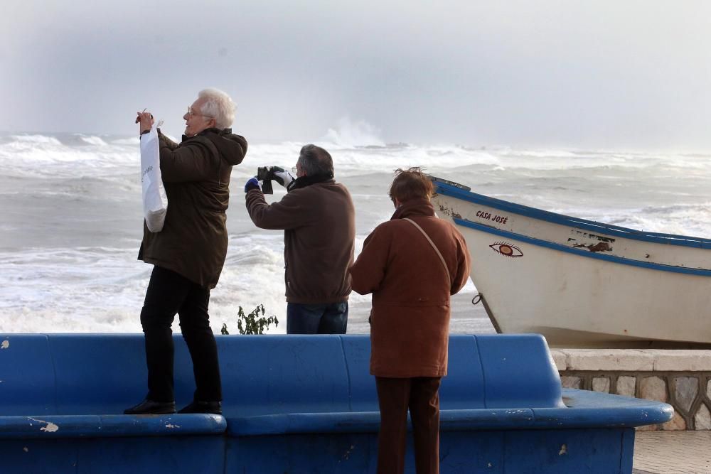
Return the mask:
[[(368, 335), (216, 337), (226, 416), (377, 411)], [(6, 335), (0, 415), (116, 414), (146, 394), (141, 334)], [(193, 394), (176, 347), (176, 402)], [(442, 409), (562, 406), (560, 379), (540, 335), (452, 335)], [(525, 380), (525, 384), (521, 381)]]

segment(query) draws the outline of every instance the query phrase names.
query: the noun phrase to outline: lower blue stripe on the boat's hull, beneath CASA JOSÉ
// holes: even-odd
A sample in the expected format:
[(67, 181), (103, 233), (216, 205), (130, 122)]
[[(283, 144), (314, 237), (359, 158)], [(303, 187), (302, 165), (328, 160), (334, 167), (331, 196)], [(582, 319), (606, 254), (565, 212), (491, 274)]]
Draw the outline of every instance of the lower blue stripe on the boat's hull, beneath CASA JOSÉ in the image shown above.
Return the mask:
[(518, 240), (520, 242), (527, 242), (529, 244), (538, 245), (540, 247), (547, 247), (553, 250), (559, 250), (560, 252), (568, 252), (569, 254), (575, 254), (579, 257), (588, 257), (591, 259), (606, 260), (607, 262), (614, 262), (616, 264), (640, 266), (641, 268), (661, 270), (661, 271), (671, 271), (673, 273), (683, 273), (689, 275), (699, 275), (699, 276), (711, 276), (711, 270), (703, 269), (691, 269), (685, 268), (683, 266), (673, 266), (664, 264), (654, 264), (651, 262), (640, 262), (639, 260), (626, 259), (624, 257), (615, 257), (614, 255), (606, 255), (602, 253), (589, 252), (582, 249), (574, 249), (572, 247), (566, 247), (565, 245), (556, 244), (555, 242), (548, 242), (547, 240), (535, 239), (533, 237), (528, 237), (527, 235), (516, 234), (515, 232), (508, 232), (508, 230), (496, 229), (494, 227), (489, 227), (488, 225), (477, 224), (476, 222), (471, 222), (471, 220), (454, 218), (454, 223), (456, 225), (461, 225), (463, 227), (470, 227), (471, 229), (481, 230), (482, 232), (488, 232), (489, 234), (498, 235), (501, 237), (506, 237), (508, 239)]

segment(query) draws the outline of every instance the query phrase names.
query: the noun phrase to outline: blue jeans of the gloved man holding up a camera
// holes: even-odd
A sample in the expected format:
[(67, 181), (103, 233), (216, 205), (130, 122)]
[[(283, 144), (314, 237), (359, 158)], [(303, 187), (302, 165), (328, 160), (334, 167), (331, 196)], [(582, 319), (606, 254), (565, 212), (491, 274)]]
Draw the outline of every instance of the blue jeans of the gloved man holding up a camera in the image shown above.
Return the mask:
[(287, 303), (287, 334), (346, 334), (348, 301)]

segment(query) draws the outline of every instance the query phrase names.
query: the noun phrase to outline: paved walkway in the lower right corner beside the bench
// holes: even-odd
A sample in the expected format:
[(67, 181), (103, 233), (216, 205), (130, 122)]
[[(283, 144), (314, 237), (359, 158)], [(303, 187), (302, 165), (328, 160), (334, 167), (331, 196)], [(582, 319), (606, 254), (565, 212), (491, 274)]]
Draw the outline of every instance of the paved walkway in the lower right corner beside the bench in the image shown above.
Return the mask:
[(633, 474), (711, 474), (711, 431), (637, 431)]

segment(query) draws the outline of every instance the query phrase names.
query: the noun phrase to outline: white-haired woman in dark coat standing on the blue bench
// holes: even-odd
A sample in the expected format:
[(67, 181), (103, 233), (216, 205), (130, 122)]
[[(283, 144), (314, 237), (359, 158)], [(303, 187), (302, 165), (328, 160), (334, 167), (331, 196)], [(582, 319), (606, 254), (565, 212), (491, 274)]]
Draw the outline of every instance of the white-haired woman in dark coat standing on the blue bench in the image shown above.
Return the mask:
[[(154, 264), (141, 325), (146, 340), (148, 394), (125, 414), (175, 413), (173, 336), (175, 315), (193, 360), (196, 391), (181, 413), (222, 412), (220, 367), (208, 303), (225, 263), (232, 166), (247, 151), (232, 134), (235, 104), (220, 90), (206, 89), (183, 115), (185, 134), (176, 144), (159, 131), (161, 174), (168, 212), (163, 230), (144, 222), (139, 260)], [(141, 136), (151, 130), (150, 112), (138, 112)]]

